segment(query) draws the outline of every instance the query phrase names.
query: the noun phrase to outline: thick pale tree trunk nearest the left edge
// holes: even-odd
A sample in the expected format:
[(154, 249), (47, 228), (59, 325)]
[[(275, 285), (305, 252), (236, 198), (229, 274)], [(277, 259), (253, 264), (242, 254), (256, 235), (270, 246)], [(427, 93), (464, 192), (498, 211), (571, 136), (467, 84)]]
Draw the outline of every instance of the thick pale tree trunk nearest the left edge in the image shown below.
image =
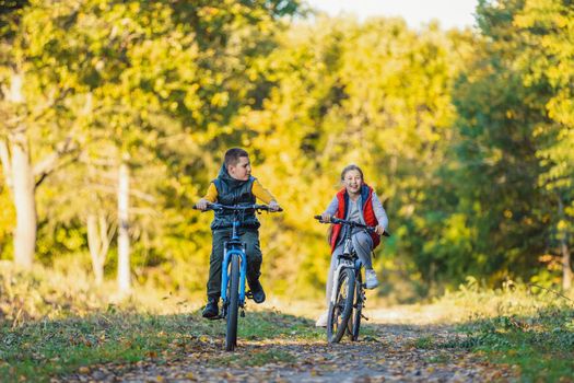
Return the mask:
[(34, 172), (30, 161), (28, 142), (23, 129), (10, 135), (12, 154), (12, 186), (16, 210), (14, 232), (14, 262), (25, 268), (32, 267), (36, 247), (36, 199)]

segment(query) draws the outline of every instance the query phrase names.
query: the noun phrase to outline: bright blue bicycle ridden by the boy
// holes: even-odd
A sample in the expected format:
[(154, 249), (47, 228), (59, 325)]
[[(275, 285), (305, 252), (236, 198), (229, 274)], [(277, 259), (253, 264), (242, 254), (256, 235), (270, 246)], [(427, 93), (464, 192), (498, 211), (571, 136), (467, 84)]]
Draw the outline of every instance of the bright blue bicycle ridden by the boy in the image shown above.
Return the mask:
[[(239, 227), (243, 216), (247, 211), (273, 211), (267, 205), (236, 205), (226, 206), (221, 204), (209, 204), (208, 210), (233, 211), (232, 237), (223, 245), (224, 255), (221, 267), (221, 299), (223, 302), (220, 318), (227, 320), (225, 332), (225, 350), (233, 351), (237, 347), (237, 316), (239, 307), (242, 317), (245, 316), (245, 280), (247, 276), (247, 255), (245, 245), (239, 237)], [(283, 211), (279, 209), (277, 211)], [(248, 297), (250, 298), (250, 297)]]

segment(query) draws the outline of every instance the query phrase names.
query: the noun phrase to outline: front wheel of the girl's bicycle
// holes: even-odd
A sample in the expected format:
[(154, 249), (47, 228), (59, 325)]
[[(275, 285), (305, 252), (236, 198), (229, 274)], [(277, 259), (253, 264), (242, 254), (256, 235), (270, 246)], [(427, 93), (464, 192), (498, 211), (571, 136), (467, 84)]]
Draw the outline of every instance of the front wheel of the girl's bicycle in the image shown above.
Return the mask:
[(344, 268), (336, 281), (336, 299), (329, 303), (327, 318), (327, 340), (330, 344), (339, 343), (347, 330), (349, 317), (353, 310), (354, 270)]

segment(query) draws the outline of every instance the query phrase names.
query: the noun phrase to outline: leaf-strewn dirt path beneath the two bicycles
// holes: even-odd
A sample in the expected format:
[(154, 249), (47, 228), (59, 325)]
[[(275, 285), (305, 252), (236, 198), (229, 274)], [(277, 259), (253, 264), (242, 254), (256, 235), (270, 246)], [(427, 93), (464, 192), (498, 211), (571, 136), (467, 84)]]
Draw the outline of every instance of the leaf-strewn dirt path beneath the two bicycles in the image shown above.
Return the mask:
[[(192, 337), (185, 352), (161, 364), (150, 358), (132, 364), (101, 365), (66, 381), (122, 382), (490, 382), (513, 381), (504, 365), (483, 362), (448, 347), (457, 335), (448, 326), (396, 323), (400, 312), (374, 314), (359, 341), (328, 345), (315, 338), (239, 339), (235, 352), (216, 337)], [(402, 316), (405, 317), (405, 316)], [(422, 324), (421, 324), (422, 323)], [(312, 322), (308, 322), (312, 325)]]

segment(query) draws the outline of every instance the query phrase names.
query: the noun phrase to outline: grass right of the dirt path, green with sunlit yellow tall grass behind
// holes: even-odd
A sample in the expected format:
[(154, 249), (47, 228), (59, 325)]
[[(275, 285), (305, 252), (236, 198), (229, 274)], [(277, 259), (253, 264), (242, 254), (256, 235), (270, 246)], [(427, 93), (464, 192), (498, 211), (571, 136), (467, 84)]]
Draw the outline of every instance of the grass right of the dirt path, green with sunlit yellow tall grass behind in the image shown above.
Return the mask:
[(517, 365), (525, 382), (573, 381), (574, 305), (567, 297), (525, 285), (499, 290), (467, 286), (437, 304), (464, 307), (468, 316), (456, 327), (460, 336), (440, 347)]

